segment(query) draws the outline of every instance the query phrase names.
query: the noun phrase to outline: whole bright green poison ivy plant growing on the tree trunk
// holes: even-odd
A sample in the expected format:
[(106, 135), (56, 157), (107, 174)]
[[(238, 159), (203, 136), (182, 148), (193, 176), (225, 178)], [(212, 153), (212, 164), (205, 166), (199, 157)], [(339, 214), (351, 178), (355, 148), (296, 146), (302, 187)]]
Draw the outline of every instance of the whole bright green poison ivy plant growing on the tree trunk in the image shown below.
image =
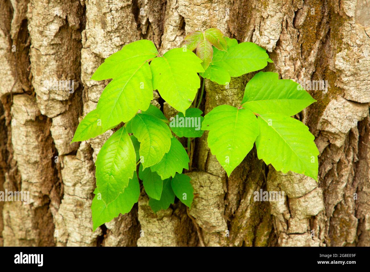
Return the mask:
[[(189, 33), (181, 48), (162, 56), (151, 41), (139, 40), (105, 59), (91, 80), (111, 81), (72, 140), (114, 131), (95, 162), (93, 229), (128, 213), (138, 202), (141, 182), (154, 212), (167, 209), (175, 197), (191, 208), (194, 189), (186, 172), (192, 171), (195, 139), (204, 131), (228, 176), (255, 144), (258, 158), (277, 171), (317, 180), (314, 136), (292, 117), (315, 100), (293, 80), (259, 72), (246, 84), (240, 105), (219, 105), (204, 117), (199, 109), (206, 79), (228, 85), (232, 77), (260, 70), (269, 62), (263, 48), (224, 37), (217, 28)], [(160, 102), (178, 111), (169, 120), (162, 105), (151, 102), (154, 90)]]

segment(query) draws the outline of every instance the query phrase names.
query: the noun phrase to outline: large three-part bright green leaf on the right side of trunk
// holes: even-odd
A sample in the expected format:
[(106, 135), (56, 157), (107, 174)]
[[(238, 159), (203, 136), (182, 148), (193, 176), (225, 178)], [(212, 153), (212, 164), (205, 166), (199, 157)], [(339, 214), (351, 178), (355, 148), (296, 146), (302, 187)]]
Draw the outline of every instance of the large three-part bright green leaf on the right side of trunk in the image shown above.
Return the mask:
[(315, 100), (297, 86), (292, 80), (279, 80), (276, 73), (260, 72), (245, 88), (242, 105), (247, 111), (221, 105), (205, 116), (202, 129), (210, 131), (208, 146), (228, 175), (256, 141), (258, 158), (266, 164), (317, 180), (319, 151), (314, 136), (302, 122), (289, 117)]

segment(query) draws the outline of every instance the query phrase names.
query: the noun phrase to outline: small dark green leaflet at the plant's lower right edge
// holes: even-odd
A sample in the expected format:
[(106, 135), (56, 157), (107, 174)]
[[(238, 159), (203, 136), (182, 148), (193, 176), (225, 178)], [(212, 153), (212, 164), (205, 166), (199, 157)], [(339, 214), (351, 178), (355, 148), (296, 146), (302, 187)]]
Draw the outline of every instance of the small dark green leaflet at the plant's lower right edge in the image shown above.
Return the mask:
[(171, 179), (171, 187), (176, 197), (189, 208), (191, 208), (194, 199), (194, 190), (190, 180), (191, 178), (184, 174), (176, 174)]

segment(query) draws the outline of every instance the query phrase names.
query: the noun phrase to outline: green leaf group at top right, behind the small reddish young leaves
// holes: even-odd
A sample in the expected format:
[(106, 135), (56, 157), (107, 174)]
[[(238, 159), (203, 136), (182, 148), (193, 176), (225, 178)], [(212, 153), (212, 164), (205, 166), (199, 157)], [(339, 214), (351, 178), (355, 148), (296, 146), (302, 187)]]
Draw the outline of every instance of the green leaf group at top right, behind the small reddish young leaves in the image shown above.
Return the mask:
[(267, 65), (269, 56), (266, 50), (257, 44), (249, 42), (235, 44), (234, 40), (228, 41), (231, 46), (227, 51), (216, 48), (213, 50), (212, 62), (202, 74), (203, 77), (227, 85), (230, 81), (223, 80), (260, 70)]

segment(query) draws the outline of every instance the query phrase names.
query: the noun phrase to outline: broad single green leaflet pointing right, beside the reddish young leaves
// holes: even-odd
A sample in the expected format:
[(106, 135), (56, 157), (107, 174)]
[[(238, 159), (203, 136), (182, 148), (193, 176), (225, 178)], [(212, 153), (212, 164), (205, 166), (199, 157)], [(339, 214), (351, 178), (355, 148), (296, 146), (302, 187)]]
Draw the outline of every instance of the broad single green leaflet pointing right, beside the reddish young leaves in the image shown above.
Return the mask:
[(255, 43), (245, 42), (213, 53), (212, 64), (224, 68), (231, 77), (260, 70), (267, 66), (269, 55)]

